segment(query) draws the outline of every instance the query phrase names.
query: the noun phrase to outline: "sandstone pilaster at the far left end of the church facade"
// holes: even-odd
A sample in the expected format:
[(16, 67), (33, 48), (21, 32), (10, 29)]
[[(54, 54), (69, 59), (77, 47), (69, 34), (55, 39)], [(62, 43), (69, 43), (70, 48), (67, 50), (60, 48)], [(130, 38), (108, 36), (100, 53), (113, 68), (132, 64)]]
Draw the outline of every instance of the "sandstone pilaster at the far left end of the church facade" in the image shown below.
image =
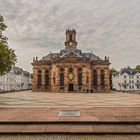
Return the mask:
[(33, 91), (36, 92), (37, 91), (37, 86), (38, 86), (38, 70), (37, 69), (33, 69)]

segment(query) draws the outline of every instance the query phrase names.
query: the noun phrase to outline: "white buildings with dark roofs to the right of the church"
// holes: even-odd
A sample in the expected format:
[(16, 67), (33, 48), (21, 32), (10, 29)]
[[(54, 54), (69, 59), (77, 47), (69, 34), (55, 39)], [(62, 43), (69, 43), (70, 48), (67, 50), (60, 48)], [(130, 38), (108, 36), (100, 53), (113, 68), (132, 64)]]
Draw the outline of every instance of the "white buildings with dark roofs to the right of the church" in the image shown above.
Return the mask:
[(112, 87), (117, 91), (140, 92), (140, 71), (127, 67), (115, 72), (112, 76)]

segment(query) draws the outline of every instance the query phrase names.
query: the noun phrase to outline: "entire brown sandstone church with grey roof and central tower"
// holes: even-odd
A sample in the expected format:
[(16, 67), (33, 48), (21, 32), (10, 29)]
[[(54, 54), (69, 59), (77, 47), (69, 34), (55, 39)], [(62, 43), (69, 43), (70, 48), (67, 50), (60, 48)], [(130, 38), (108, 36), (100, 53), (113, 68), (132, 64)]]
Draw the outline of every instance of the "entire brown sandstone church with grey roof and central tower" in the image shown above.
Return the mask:
[(109, 58), (102, 60), (77, 47), (76, 30), (66, 30), (65, 48), (33, 58), (33, 91), (110, 92)]

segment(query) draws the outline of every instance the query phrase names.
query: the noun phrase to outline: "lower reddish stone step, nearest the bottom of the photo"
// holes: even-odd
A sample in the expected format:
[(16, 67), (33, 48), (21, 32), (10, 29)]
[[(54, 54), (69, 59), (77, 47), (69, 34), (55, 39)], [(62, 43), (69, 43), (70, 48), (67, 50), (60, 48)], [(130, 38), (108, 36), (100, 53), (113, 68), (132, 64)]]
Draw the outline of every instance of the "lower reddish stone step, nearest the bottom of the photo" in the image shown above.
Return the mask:
[(140, 134), (140, 123), (0, 124), (0, 134)]

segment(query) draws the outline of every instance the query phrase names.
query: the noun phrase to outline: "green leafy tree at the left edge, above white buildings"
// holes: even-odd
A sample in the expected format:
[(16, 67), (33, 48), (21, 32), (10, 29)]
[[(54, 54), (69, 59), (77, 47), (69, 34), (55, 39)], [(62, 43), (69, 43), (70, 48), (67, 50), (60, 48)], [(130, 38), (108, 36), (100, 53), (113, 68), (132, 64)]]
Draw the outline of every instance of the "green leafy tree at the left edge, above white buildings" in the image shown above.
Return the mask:
[(15, 51), (8, 46), (8, 38), (2, 34), (7, 26), (4, 19), (0, 15), (0, 75), (8, 73), (12, 66), (16, 63)]

